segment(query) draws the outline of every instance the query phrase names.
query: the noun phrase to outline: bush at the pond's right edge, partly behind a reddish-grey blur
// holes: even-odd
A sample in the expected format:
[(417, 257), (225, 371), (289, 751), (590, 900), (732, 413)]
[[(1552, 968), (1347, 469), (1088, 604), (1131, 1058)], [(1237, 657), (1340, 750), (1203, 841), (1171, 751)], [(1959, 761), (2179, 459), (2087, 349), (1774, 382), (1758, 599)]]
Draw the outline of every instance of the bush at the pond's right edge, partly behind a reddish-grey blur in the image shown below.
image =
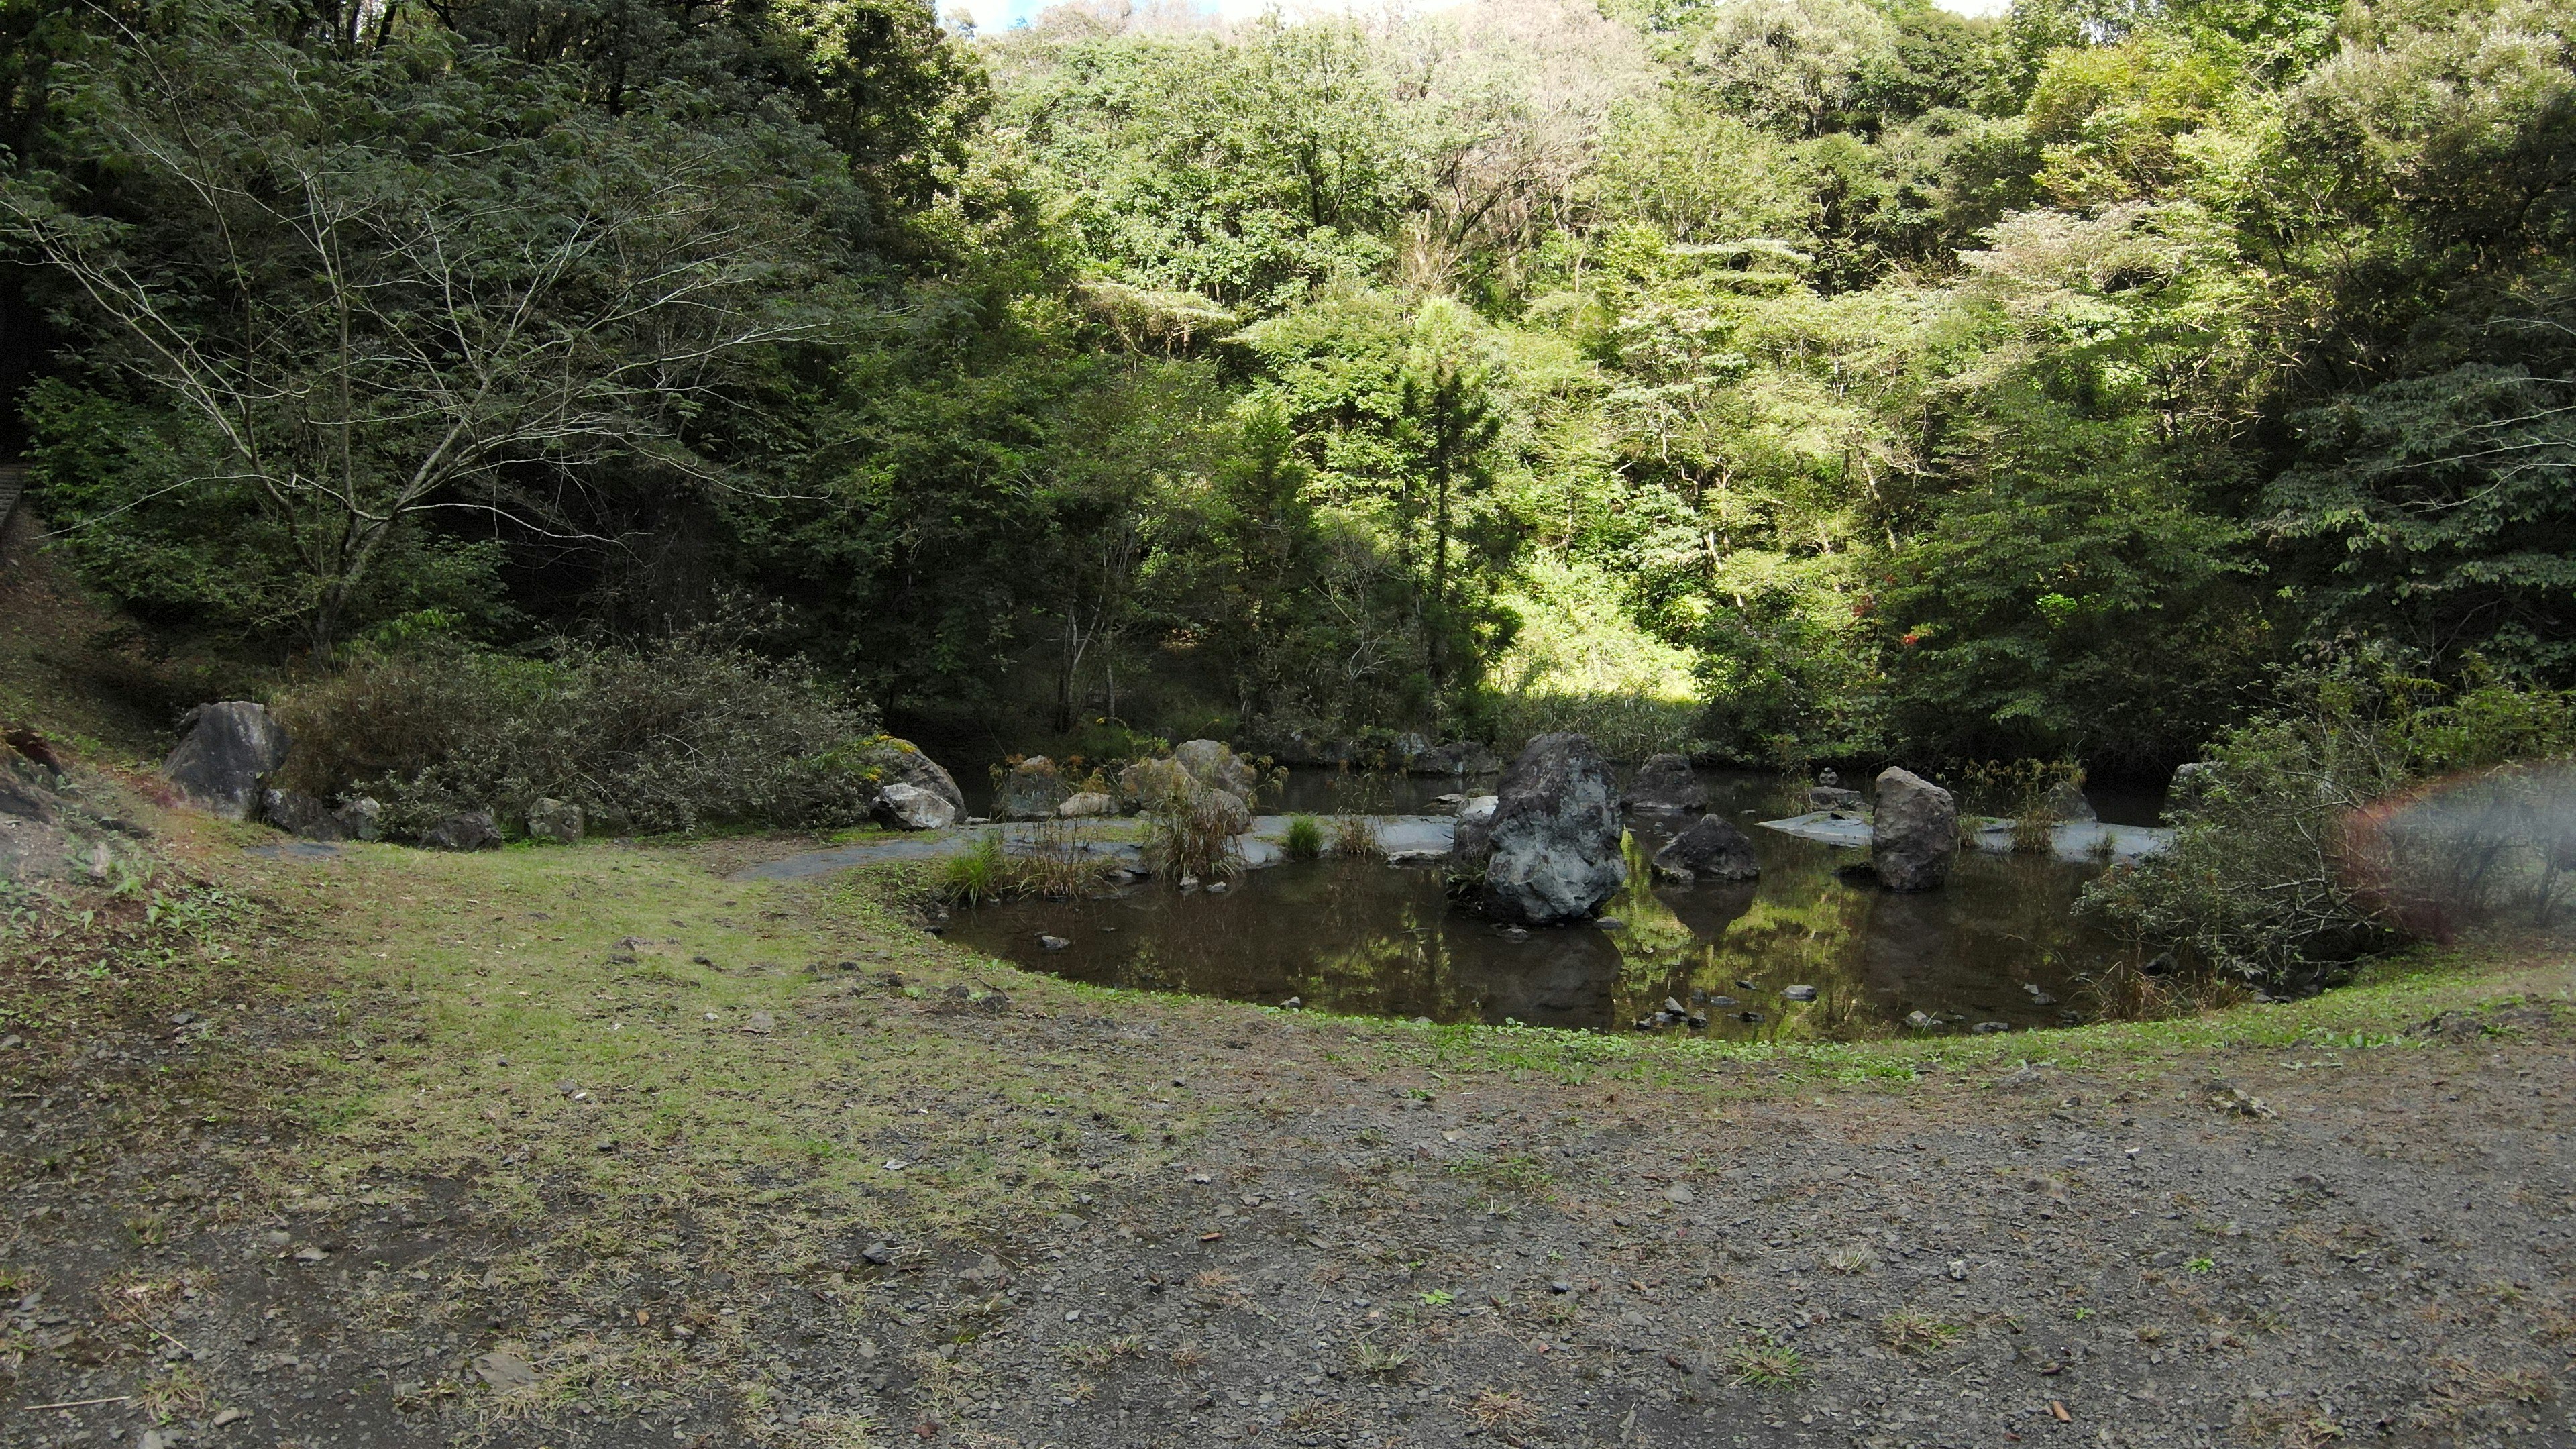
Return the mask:
[(2084, 902), (2182, 975), (2306, 987), (2370, 951), (2506, 910), (2545, 918), (2576, 866), (2576, 696), (2396, 670), (2293, 681), (2233, 730), (2174, 846)]

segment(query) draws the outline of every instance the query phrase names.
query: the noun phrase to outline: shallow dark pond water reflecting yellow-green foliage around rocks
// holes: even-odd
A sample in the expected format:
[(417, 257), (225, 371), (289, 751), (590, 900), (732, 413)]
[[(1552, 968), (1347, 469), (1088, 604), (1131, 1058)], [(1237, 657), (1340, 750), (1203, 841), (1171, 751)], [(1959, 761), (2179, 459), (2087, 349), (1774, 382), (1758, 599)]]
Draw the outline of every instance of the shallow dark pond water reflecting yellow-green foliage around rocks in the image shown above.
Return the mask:
[[(1963, 851), (1945, 890), (1896, 895), (1862, 851), (1754, 825), (1803, 810), (1803, 786), (1703, 779), (1710, 810), (1747, 825), (1762, 879), (1651, 882), (1646, 856), (1680, 822), (1631, 815), (1631, 884), (1589, 926), (1507, 931), (1450, 905), (1437, 866), (1324, 859), (1244, 871), (1221, 895), (1154, 879), (1108, 900), (958, 910), (948, 938), (1095, 985), (1432, 1021), (1633, 1029), (1667, 998), (1736, 1042), (1896, 1036), (1924, 1029), (1911, 1013), (1945, 1031), (2076, 1018), (2074, 977), (2110, 951), (2074, 913), (2099, 866)], [(1327, 810), (1321, 789), (1291, 779), (1288, 802)], [(1404, 797), (1383, 804), (1409, 810), (1458, 786), (1394, 789)], [(2151, 802), (2094, 792), (2094, 804), (2154, 817)]]

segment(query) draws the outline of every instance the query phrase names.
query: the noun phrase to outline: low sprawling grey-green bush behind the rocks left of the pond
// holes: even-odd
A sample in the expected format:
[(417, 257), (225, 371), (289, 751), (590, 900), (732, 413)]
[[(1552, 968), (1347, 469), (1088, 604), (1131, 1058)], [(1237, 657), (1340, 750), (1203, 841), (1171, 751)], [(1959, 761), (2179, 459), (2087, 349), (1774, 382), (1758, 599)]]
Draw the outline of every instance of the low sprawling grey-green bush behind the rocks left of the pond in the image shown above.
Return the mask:
[(701, 634), (544, 657), (415, 645), (273, 709), (294, 737), (281, 784), (371, 794), (397, 835), (456, 810), (523, 820), (544, 797), (611, 830), (848, 825), (876, 794), (842, 750), (876, 732), (871, 709)]

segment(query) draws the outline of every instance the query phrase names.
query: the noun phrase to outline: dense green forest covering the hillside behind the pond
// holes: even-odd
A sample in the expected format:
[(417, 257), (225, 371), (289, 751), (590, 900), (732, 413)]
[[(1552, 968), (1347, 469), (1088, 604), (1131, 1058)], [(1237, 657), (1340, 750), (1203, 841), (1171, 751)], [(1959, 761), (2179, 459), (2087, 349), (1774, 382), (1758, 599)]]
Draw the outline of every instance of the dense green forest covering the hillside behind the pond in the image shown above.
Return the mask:
[(10, 425), (160, 650), (2097, 771), (2576, 683), (2563, 5), (0, 21)]

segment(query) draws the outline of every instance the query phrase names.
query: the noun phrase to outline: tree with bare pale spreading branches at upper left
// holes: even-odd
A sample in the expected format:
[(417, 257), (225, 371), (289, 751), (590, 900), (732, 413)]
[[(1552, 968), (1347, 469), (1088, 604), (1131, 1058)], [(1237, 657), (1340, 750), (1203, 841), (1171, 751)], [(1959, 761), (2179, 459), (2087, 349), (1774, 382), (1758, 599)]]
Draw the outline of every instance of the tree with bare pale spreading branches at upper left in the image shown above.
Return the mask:
[(72, 106), (116, 191), (31, 175), (0, 217), (70, 281), (93, 358), (191, 423), (191, 482), (276, 516), (319, 660), (428, 511), (562, 531), (531, 482), (616, 454), (719, 482), (690, 418), (817, 325), (814, 206), (755, 134), (551, 106), (435, 41), (126, 39)]

